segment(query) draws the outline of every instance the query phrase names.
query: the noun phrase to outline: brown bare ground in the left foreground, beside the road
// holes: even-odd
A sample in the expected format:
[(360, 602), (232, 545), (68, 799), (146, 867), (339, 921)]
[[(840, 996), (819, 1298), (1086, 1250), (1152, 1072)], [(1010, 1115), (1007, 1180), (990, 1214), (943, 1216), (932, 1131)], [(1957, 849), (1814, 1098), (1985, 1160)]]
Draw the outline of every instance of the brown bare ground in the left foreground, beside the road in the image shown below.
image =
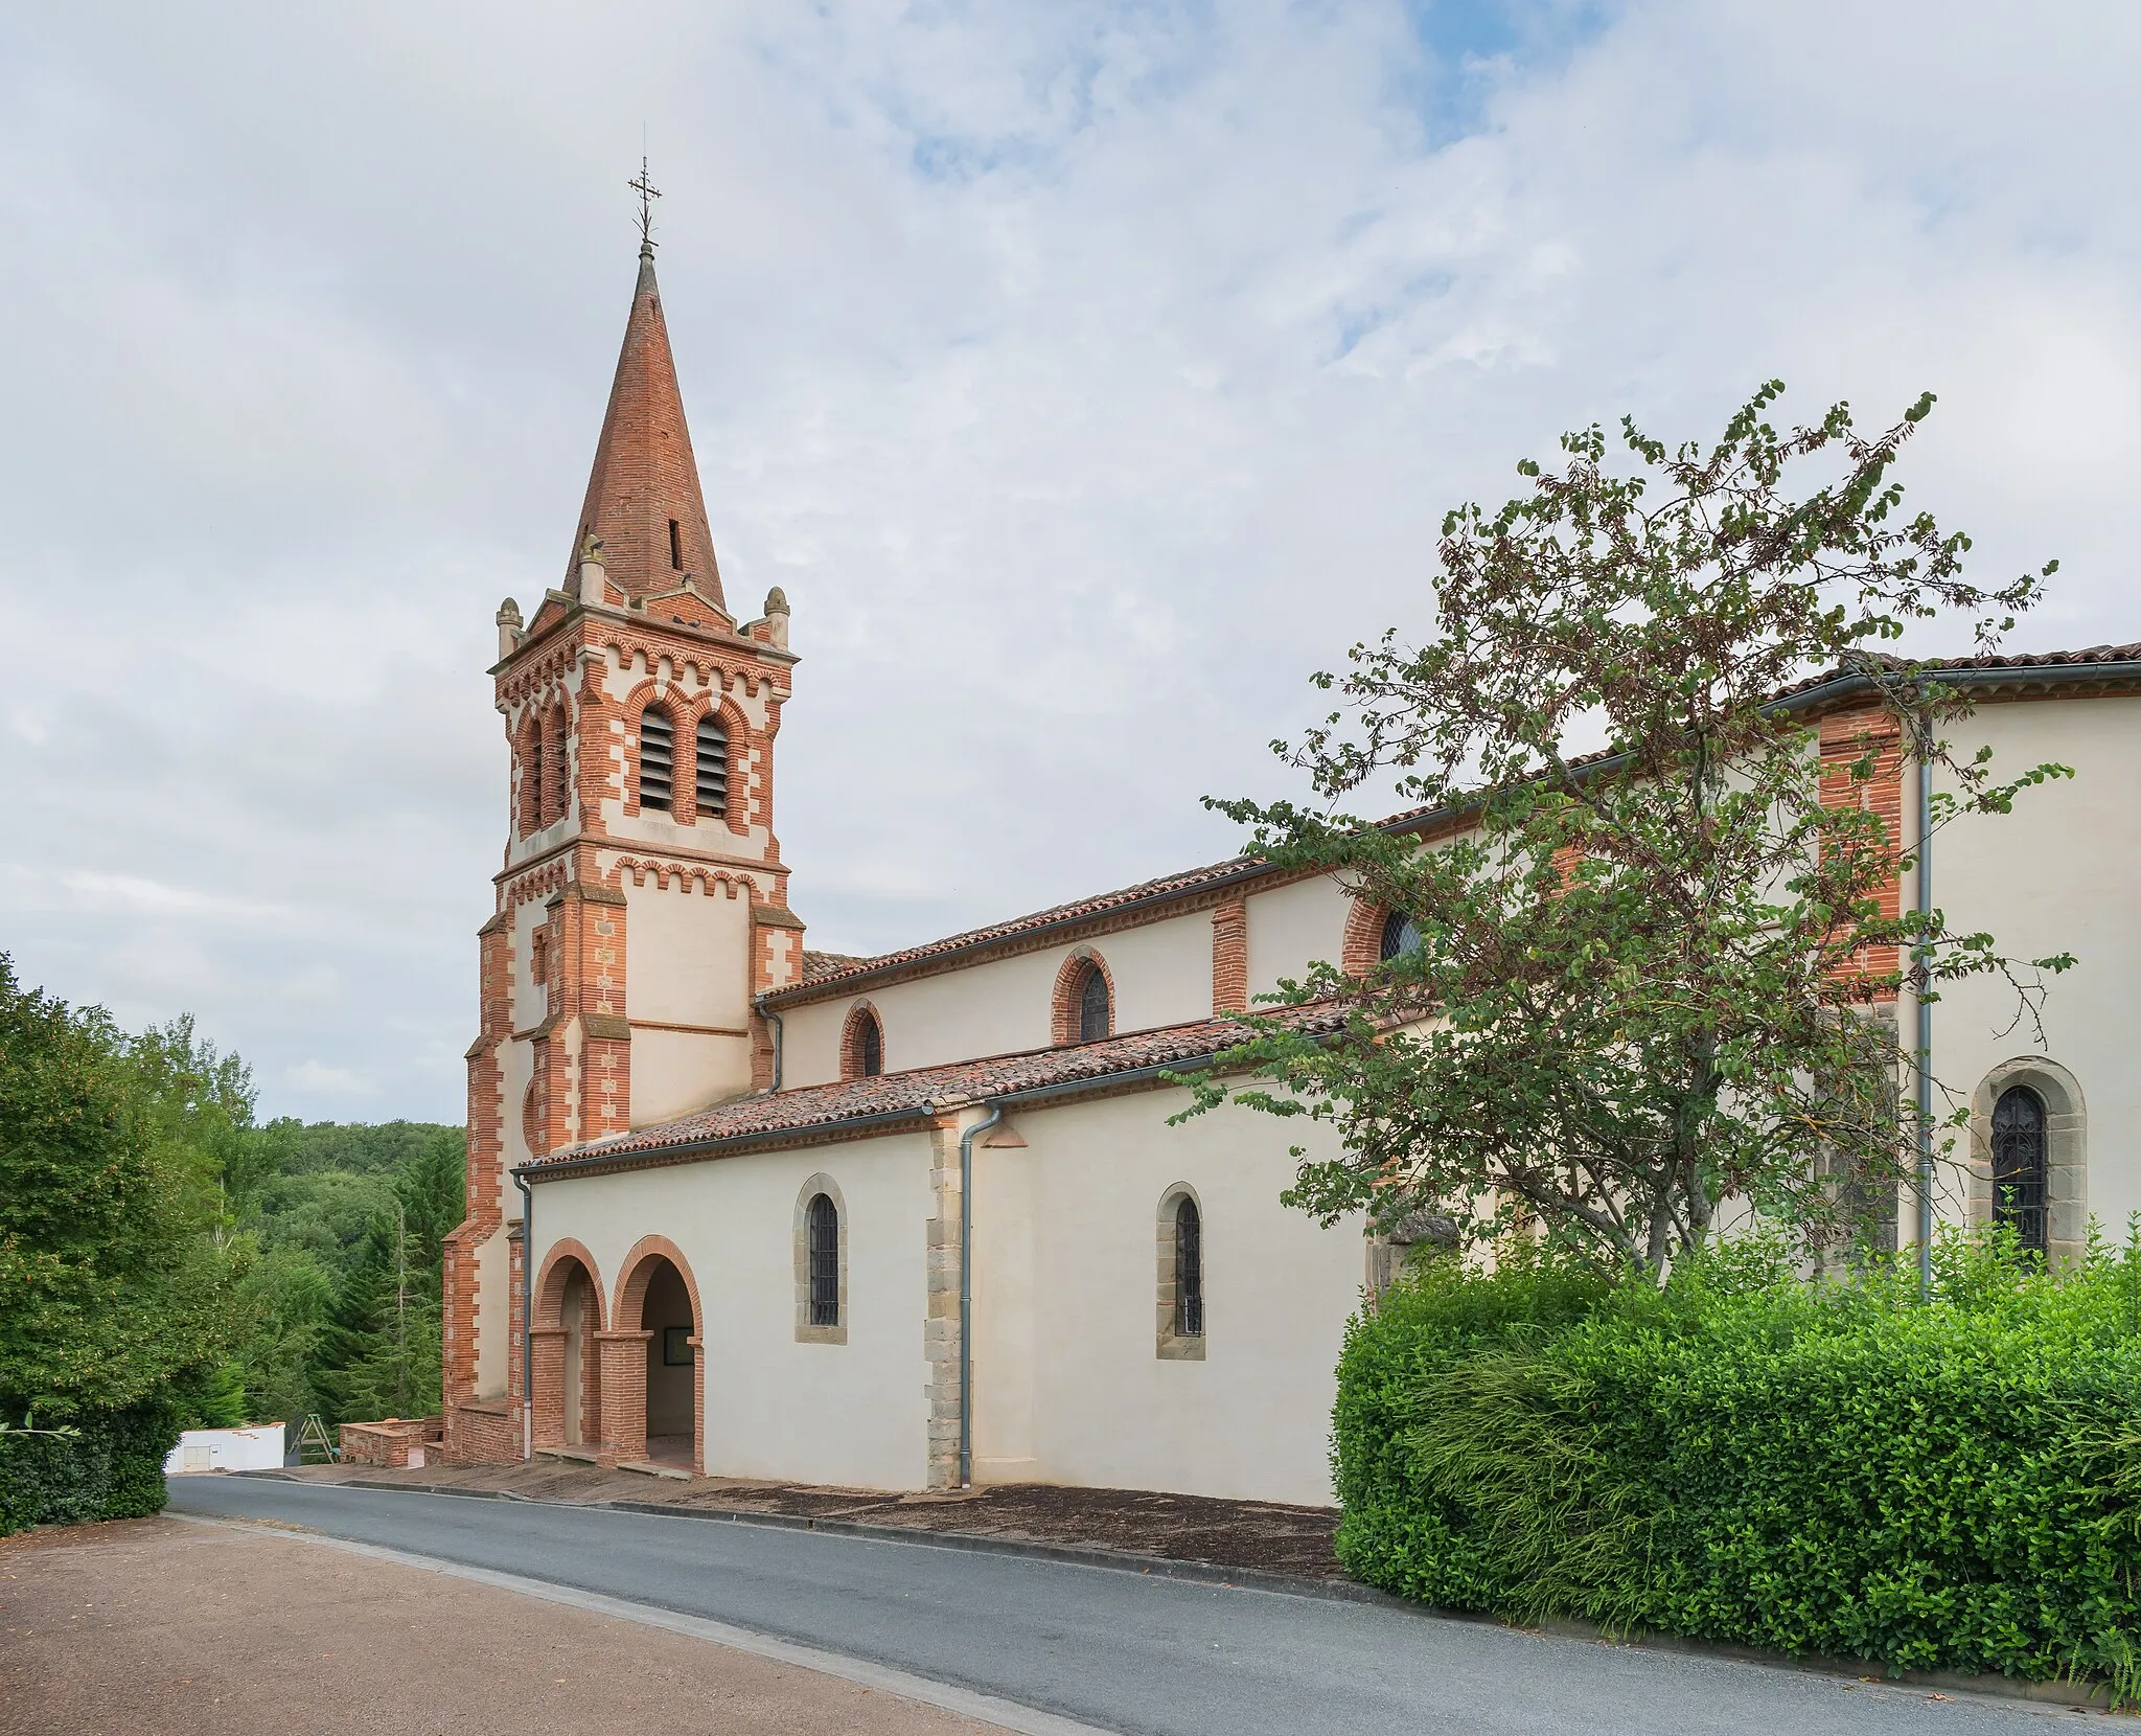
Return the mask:
[(998, 1736), (685, 1633), (255, 1531), (120, 1520), (0, 1539), (0, 1732), (285, 1730)]

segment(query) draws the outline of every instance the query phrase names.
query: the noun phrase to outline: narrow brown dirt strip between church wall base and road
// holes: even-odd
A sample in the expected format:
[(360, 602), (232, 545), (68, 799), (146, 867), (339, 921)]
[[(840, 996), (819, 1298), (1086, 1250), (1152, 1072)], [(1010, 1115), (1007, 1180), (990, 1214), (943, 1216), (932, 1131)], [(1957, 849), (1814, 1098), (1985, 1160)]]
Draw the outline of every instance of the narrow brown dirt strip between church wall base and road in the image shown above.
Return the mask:
[(1150, 1490), (1075, 1490), (1004, 1483), (963, 1494), (884, 1494), (811, 1483), (751, 1483), (732, 1477), (649, 1477), (537, 1458), (533, 1464), (432, 1464), (422, 1471), (315, 1464), (285, 1473), (306, 1481), (505, 1490), (535, 1501), (662, 1501), (741, 1513), (801, 1513), (908, 1531), (968, 1531), (1032, 1543), (1073, 1543), (1216, 1567), (1261, 1567), (1297, 1578), (1340, 1578), (1332, 1554), (1336, 1507), (1214, 1501)]

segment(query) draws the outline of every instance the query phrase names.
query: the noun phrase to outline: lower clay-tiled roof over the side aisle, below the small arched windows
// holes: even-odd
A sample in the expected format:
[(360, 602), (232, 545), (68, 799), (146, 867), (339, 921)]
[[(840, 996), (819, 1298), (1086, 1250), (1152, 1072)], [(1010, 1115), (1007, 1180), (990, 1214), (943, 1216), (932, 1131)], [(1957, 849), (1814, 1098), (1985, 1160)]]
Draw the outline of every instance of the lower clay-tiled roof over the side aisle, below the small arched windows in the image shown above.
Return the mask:
[[(1336, 1030), (1338, 1012), (1312, 1010), (1297, 1015), (1308, 1030)], [(1128, 1032), (1100, 1042), (1075, 1042), (1060, 1049), (1028, 1049), (1015, 1055), (987, 1055), (976, 1062), (921, 1066), (908, 1072), (880, 1072), (876, 1079), (844, 1079), (831, 1085), (799, 1085), (788, 1092), (760, 1092), (747, 1098), (717, 1102), (677, 1122), (638, 1132), (599, 1139), (535, 1158), (529, 1171), (561, 1162), (576, 1167), (625, 1158), (685, 1154), (707, 1145), (741, 1139), (777, 1139), (781, 1135), (837, 1135), (863, 1122), (925, 1115), (1041, 1092), (1060, 1085), (1092, 1083), (1103, 1090), (1111, 1079), (1145, 1068), (1199, 1062), (1244, 1038), (1233, 1019), (1197, 1019), (1186, 1025), (1163, 1025), (1150, 1032)]]

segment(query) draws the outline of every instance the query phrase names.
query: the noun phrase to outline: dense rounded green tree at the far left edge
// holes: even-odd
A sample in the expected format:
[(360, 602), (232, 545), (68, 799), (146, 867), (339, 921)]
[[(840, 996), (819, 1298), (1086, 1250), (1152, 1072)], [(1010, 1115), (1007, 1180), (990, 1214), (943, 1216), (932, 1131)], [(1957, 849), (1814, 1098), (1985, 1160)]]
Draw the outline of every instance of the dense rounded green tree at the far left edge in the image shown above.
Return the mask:
[(212, 1368), (236, 1263), (214, 1194), (101, 1008), (0, 955), (0, 1415), (64, 1421)]

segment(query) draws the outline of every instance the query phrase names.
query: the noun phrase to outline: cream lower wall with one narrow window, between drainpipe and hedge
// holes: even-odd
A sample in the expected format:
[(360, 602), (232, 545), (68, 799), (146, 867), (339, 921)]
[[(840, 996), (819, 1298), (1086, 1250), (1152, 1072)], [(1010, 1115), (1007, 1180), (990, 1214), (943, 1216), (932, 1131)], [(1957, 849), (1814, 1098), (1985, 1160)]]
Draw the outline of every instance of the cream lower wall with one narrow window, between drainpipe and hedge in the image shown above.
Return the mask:
[[(1357, 1224), (1278, 1203), (1297, 1126), (1182, 1092), (1013, 1113), (1023, 1152), (976, 1152), (978, 1475), (1327, 1503)], [(1310, 1135), (1312, 1139), (1315, 1135)], [(1203, 1209), (1205, 1357), (1156, 1351), (1156, 1218)], [(1019, 1310), (1028, 1308), (1028, 1319)]]

